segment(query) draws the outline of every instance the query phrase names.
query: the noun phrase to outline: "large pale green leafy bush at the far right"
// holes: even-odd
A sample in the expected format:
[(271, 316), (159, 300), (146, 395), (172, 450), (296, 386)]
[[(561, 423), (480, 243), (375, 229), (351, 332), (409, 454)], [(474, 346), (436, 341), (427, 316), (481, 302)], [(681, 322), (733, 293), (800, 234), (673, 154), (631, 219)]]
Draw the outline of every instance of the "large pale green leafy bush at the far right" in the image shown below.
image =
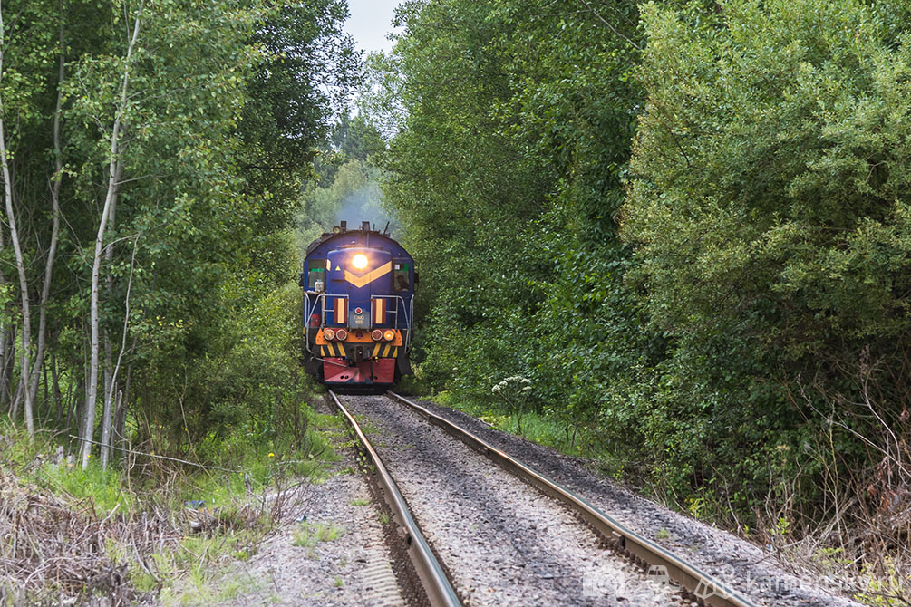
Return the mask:
[[(648, 102), (623, 235), (668, 340), (653, 404), (680, 423), (659, 444), (695, 483), (748, 488), (744, 510), (750, 488), (797, 477), (812, 511), (815, 410), (857, 398), (864, 357), (904, 364), (911, 56), (889, 15), (814, 0), (643, 14)], [(897, 430), (906, 378), (877, 383)], [(870, 465), (852, 430), (835, 438), (846, 472)]]

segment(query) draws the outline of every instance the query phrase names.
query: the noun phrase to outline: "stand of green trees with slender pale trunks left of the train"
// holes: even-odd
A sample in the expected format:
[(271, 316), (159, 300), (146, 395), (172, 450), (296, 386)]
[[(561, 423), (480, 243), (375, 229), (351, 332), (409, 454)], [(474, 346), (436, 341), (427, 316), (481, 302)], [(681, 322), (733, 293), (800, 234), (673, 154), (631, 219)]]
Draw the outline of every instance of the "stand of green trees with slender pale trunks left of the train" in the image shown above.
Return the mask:
[(75, 435), (84, 467), (125, 441), (182, 455), (273, 425), (298, 375), (294, 211), (359, 69), (346, 16), (343, 0), (3, 4), (12, 420)]

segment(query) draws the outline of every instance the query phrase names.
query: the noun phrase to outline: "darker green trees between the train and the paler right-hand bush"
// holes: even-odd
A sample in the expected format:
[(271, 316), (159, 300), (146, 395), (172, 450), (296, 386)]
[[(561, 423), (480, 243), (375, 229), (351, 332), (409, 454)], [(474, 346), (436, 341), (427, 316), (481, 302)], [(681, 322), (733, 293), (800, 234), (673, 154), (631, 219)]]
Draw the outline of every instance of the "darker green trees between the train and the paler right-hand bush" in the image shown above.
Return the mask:
[(615, 219), (641, 34), (633, 3), (601, 8), (619, 29), (586, 3), (405, 5), (365, 106), (400, 121), (384, 191), (422, 267), (419, 381), (486, 409), (492, 385), (525, 377), (523, 412), (638, 449), (660, 344), (623, 281)]

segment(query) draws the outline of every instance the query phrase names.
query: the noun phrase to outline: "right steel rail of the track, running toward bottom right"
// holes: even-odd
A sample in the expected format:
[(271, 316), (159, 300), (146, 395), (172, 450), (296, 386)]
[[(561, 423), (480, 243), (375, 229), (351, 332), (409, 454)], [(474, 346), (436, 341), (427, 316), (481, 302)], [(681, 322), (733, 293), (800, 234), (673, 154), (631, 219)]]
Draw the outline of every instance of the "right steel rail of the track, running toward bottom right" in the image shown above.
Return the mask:
[(387, 392), (394, 399), (403, 402), (428, 421), (439, 426), (469, 447), (477, 450), (505, 470), (531, 483), (539, 490), (566, 504), (570, 510), (577, 512), (605, 540), (619, 541), (621, 549), (628, 551), (634, 558), (644, 562), (645, 566), (662, 566), (673, 582), (681, 585), (695, 599), (711, 607), (757, 607), (756, 603), (744, 598), (730, 586), (715, 579), (711, 574), (702, 572), (698, 567), (661, 548), (658, 544), (630, 530), (619, 521), (610, 517), (585, 498), (549, 479), (537, 470), (510, 457), (504, 451), (480, 439), (472, 432), (460, 428), (455, 423), (436, 415), (425, 407), (405, 399), (392, 391)]

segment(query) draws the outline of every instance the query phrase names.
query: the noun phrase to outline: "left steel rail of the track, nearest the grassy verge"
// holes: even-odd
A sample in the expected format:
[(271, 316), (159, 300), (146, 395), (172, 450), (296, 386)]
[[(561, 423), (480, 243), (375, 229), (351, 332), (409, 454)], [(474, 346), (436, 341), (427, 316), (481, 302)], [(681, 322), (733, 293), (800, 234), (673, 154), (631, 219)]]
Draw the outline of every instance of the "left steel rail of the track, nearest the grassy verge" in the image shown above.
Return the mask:
[(354, 420), (352, 414), (343, 407), (335, 392), (329, 390), (329, 394), (333, 397), (338, 410), (342, 411), (343, 415), (348, 419), (348, 423), (351, 424), (357, 439), (361, 441), (363, 449), (367, 451), (370, 459), (373, 460), (376, 480), (383, 488), (386, 503), (389, 505), (390, 510), (393, 511), (394, 521), (404, 531), (404, 535), (401, 536), (401, 541), (404, 541), (404, 551), (415, 566), (415, 572), (424, 587), (427, 600), (435, 607), (461, 607), (462, 602), (459, 601), (455, 589), (443, 571), (443, 567), (436, 560), (434, 552), (430, 550), (430, 544), (427, 543), (424, 534), (418, 528), (411, 511), (408, 510), (407, 502), (404, 501), (402, 493), (396, 487), (389, 470), (386, 470), (383, 460), (380, 459), (373, 445), (364, 436), (363, 430), (361, 430), (357, 421)]

